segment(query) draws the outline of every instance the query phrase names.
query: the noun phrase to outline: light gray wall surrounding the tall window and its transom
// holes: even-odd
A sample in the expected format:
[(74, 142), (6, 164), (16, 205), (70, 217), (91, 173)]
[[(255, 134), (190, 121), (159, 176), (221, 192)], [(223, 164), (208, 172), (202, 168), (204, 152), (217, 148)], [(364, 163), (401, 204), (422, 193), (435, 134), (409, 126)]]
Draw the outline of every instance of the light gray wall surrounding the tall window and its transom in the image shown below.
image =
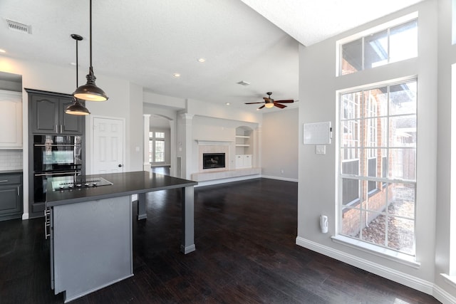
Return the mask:
[[(450, 2), (450, 0), (445, 1)], [(448, 137), (444, 139), (437, 133), (437, 58), (440, 55), (443, 56), (443, 54), (437, 53), (437, 5), (440, 2), (424, 1), (313, 46), (301, 46), (299, 50), (299, 100), (301, 100), (299, 137), (302, 137), (301, 126), (304, 123), (331, 121), (332, 125), (336, 126), (337, 90), (418, 75), (416, 261), (420, 263), (420, 267), (417, 269), (331, 240), (331, 236), (336, 235), (336, 225), (338, 224), (336, 207), (338, 201), (336, 193), (337, 140), (326, 147), (325, 155), (315, 154), (314, 145), (303, 145), (302, 142), (299, 142), (299, 224), (296, 243), (426, 293), (433, 293), (432, 284), (435, 281), (436, 273), (435, 246), (438, 247), (439, 243), (449, 241), (444, 237), (445, 240), (437, 239), (436, 243), (436, 225), (445, 230), (449, 229), (450, 224), (447, 216), (445, 221), (439, 223), (435, 217), (437, 211), (437, 138), (439, 141), (448, 140)], [(419, 13), (418, 58), (336, 78), (336, 40), (417, 10)], [(451, 23), (446, 23), (445, 26), (451, 26)], [(448, 71), (450, 66), (444, 68)], [(440, 103), (447, 105), (449, 100), (439, 100), (439, 106)], [(440, 116), (438, 119), (440, 122)], [(445, 122), (444, 125), (447, 123)], [(336, 127), (336, 138), (338, 132)], [(446, 152), (444, 154), (445, 159), (442, 159), (442, 162), (448, 163), (450, 159)], [(438, 206), (443, 204), (448, 207), (450, 202), (445, 199), (444, 202), (438, 204)], [(318, 216), (320, 214), (328, 215), (329, 234), (319, 232)], [(447, 233), (445, 235), (447, 236)], [(439, 254), (445, 256), (447, 251)], [(451, 290), (451, 292), (456, 295), (455, 290)]]

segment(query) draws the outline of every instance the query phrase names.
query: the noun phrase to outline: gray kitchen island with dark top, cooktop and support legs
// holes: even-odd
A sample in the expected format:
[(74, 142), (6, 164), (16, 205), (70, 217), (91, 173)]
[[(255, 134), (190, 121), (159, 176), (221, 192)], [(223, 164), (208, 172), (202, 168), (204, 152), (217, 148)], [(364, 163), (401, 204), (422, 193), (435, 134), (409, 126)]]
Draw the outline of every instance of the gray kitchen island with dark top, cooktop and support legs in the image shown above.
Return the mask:
[(54, 293), (64, 292), (68, 302), (133, 276), (132, 201), (138, 201), (138, 220), (146, 219), (147, 192), (181, 189), (180, 250), (185, 254), (195, 251), (196, 184), (151, 172), (49, 179), (46, 222)]

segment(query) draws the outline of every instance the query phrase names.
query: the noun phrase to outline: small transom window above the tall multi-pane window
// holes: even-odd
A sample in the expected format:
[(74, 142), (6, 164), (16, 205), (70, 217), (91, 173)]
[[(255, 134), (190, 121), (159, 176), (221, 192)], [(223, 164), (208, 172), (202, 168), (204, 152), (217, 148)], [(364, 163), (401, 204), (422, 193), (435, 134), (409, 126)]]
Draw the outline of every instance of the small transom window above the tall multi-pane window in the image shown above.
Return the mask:
[(341, 43), (338, 75), (418, 56), (418, 19)]

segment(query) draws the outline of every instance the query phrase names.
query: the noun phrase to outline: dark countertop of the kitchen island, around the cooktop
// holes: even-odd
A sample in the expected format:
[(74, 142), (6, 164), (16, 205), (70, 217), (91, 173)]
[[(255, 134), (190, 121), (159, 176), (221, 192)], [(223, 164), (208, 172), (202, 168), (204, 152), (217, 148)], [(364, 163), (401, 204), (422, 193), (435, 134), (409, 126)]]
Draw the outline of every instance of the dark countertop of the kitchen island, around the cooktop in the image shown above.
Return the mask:
[(179, 179), (177, 177), (145, 171), (86, 176), (87, 179), (95, 177), (103, 177), (113, 184), (108, 186), (73, 189), (71, 191), (53, 191), (51, 185), (52, 179), (48, 179), (46, 207), (73, 204), (82, 201), (94, 201), (97, 199), (108, 199), (110, 197), (126, 196), (164, 189), (190, 187), (198, 184), (197, 182), (187, 179)]

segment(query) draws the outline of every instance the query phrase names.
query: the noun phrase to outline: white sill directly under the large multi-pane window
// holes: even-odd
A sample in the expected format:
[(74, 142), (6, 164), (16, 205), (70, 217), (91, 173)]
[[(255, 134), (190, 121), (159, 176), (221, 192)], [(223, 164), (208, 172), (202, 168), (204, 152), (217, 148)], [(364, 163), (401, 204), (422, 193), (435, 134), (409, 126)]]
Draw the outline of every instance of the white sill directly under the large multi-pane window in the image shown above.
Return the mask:
[(390, 261), (395, 261), (398, 263), (402, 263), (407, 266), (411, 266), (413, 268), (420, 268), (421, 263), (415, 261), (414, 256), (409, 256), (408, 254), (405, 253), (400, 253), (398, 251), (394, 251), (388, 248), (383, 248), (381, 246), (376, 246), (371, 243), (366, 243), (363, 241), (358, 241), (356, 239), (349, 238), (348, 236), (332, 236), (331, 239), (336, 242), (340, 243), (342, 245), (355, 248), (367, 253), (371, 253), (375, 256), (380, 256), (382, 258), (387, 258)]

